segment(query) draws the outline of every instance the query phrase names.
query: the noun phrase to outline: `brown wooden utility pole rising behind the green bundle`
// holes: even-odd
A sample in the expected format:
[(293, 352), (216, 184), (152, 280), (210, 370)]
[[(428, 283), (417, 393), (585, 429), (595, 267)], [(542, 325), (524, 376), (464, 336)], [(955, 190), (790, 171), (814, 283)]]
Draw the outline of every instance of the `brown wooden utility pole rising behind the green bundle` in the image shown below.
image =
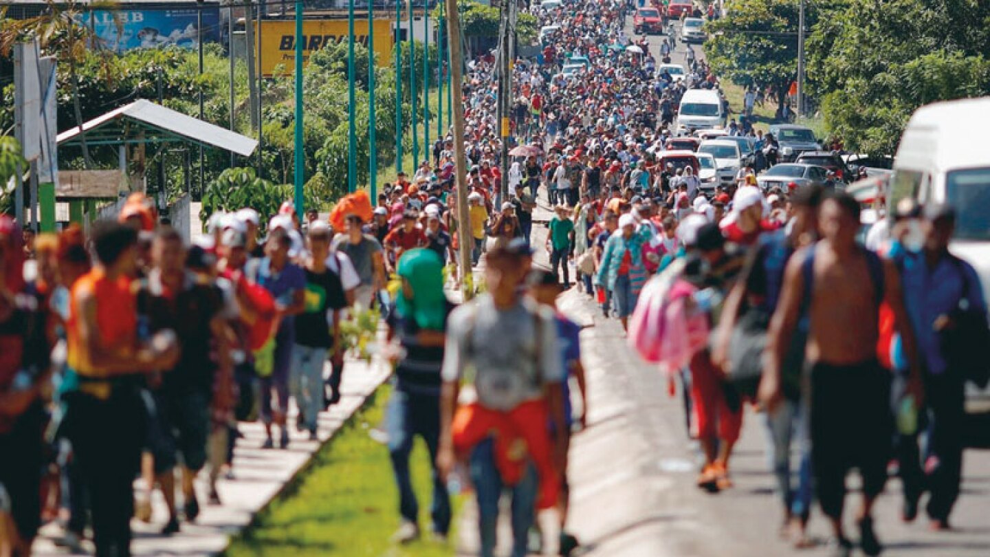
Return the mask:
[[(453, 128), (453, 168), (456, 176), (457, 187), (457, 230), (460, 235), (471, 229), (471, 217), (467, 210), (467, 157), (464, 154), (464, 103), (460, 98), (461, 75), (460, 64), (460, 14), (457, 12), (457, 0), (445, 0), (446, 2), (446, 38), (449, 46), (450, 59), (456, 63), (450, 64), (450, 92), (456, 87), (458, 91), (457, 102), (453, 104), (453, 114), (450, 123)], [(459, 242), (460, 251), (460, 284), (464, 300), (474, 297), (474, 292), (468, 288), (471, 280), (471, 246), (466, 238), (461, 238)]]

